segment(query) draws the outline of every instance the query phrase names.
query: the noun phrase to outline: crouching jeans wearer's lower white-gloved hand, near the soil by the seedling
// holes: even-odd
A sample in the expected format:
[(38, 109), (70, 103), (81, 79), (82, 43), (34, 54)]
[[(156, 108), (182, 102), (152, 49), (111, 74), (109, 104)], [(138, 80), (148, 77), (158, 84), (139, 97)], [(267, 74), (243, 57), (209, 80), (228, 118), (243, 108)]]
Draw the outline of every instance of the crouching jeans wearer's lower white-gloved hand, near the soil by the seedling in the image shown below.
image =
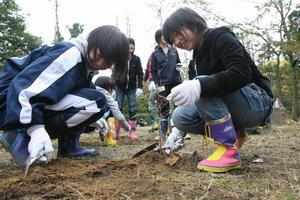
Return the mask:
[(176, 127), (172, 128), (172, 132), (167, 138), (163, 149), (166, 153), (171, 153), (172, 151), (177, 151), (184, 145), (184, 133), (178, 130)]

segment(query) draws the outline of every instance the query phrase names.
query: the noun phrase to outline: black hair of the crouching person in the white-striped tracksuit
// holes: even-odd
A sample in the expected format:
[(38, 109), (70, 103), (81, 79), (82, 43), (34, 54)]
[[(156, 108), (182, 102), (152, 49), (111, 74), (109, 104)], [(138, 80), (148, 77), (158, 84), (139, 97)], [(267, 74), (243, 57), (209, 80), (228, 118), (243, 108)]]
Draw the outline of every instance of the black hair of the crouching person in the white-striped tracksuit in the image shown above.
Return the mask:
[(97, 49), (99, 49), (105, 59), (114, 63), (117, 75), (124, 73), (127, 69), (129, 44), (127, 37), (119, 28), (111, 25), (100, 26), (89, 34), (87, 41), (89, 59), (89, 52), (93, 51), (95, 57)]

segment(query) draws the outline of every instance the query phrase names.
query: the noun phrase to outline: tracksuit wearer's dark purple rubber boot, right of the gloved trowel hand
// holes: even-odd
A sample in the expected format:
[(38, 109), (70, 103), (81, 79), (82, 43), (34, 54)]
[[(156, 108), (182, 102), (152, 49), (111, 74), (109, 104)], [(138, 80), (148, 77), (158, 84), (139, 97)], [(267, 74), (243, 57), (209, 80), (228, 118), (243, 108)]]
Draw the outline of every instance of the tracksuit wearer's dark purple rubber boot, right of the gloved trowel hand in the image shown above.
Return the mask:
[(96, 149), (87, 149), (80, 146), (80, 133), (76, 133), (73, 137), (64, 136), (58, 139), (57, 157), (83, 157), (97, 156), (99, 151)]

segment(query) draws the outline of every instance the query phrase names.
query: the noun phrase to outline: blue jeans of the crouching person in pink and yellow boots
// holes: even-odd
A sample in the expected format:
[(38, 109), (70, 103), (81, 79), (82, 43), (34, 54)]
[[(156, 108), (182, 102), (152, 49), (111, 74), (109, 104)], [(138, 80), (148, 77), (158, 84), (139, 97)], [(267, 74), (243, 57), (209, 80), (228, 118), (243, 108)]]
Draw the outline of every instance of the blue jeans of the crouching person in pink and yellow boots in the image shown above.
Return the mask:
[(183, 132), (204, 134), (205, 123), (231, 114), (236, 130), (251, 129), (271, 123), (272, 99), (250, 83), (223, 98), (201, 97), (188, 107), (177, 107), (172, 116), (174, 125)]

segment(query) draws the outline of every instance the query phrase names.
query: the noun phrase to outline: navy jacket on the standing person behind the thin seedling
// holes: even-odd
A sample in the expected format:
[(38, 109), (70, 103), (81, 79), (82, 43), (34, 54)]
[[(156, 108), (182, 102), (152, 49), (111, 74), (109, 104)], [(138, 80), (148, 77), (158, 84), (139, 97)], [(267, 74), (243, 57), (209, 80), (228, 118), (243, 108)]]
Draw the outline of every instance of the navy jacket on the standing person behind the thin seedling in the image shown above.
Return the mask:
[(151, 78), (156, 85), (180, 84), (182, 82), (180, 72), (176, 70), (176, 64), (180, 63), (179, 55), (174, 47), (168, 49), (167, 55), (161, 47), (158, 47), (150, 57)]

